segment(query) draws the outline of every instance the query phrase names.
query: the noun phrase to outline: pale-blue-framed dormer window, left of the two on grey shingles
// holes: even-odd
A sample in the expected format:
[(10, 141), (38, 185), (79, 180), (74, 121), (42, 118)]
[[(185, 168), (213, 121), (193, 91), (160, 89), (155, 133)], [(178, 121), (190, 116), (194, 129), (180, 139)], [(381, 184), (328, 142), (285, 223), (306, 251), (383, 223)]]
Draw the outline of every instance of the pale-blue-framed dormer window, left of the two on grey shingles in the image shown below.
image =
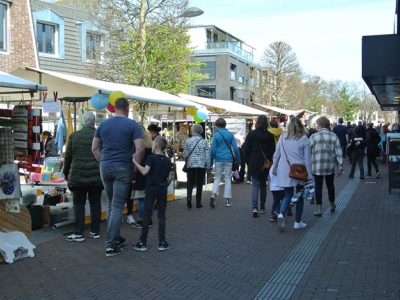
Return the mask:
[(32, 14), (39, 55), (64, 58), (64, 20), (51, 9)]

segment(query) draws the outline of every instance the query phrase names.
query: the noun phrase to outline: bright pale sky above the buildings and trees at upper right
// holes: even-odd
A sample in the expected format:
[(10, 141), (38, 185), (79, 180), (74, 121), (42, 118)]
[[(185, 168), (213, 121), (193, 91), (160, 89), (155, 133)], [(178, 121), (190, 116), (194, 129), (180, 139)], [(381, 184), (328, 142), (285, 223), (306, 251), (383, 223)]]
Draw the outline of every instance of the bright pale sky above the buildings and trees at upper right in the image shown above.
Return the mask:
[(275, 41), (292, 47), (303, 72), (362, 82), (362, 36), (393, 34), (396, 0), (190, 0), (215, 25), (252, 46), (255, 61)]

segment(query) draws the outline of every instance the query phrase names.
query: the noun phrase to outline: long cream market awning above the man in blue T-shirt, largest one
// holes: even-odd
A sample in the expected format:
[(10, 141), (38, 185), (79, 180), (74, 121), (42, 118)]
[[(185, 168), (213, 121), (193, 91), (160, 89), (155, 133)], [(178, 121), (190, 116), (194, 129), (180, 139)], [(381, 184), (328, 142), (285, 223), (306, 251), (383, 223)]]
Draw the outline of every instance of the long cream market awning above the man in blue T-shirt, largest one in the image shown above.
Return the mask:
[[(45, 84), (49, 90), (58, 92), (58, 98), (91, 97), (93, 94), (99, 92), (110, 94), (114, 91), (121, 91), (128, 99), (162, 105), (162, 111), (170, 110), (169, 107), (174, 107), (175, 109), (198, 107), (198, 105), (193, 102), (153, 88), (107, 82), (29, 67), (27, 67), (26, 70), (19, 69), (13, 72), (13, 74), (23, 78), (32, 79), (36, 77), (36, 79), (38, 79), (39, 75), (36, 73), (40, 74), (41, 82)], [(52, 95), (49, 95), (49, 97), (52, 97)], [(154, 109), (152, 108), (152, 110)]]

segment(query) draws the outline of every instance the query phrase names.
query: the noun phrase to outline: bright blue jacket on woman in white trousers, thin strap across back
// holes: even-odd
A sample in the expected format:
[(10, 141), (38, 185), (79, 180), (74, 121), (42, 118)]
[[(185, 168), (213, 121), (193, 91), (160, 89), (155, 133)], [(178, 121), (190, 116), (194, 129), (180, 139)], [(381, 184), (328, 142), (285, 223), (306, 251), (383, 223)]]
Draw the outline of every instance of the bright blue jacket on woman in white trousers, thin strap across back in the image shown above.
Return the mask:
[(235, 141), (235, 137), (226, 128), (218, 129), (218, 131), (215, 132), (213, 136), (211, 142), (211, 164), (213, 164), (214, 160), (215, 162), (227, 162), (227, 161), (233, 162), (231, 148), (228, 148), (221, 135), (225, 137), (225, 140), (227, 141), (229, 146), (233, 148), (236, 157), (236, 162), (240, 164), (241, 163), (240, 153)]

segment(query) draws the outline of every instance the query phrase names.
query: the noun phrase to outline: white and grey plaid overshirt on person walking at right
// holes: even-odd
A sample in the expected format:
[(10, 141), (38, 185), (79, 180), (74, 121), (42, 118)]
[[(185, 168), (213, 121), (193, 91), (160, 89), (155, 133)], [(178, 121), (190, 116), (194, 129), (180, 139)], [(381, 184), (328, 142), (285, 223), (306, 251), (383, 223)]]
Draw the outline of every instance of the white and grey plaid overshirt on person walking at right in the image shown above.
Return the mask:
[(343, 153), (336, 134), (322, 128), (309, 141), (314, 175), (330, 175), (334, 173), (335, 165), (339, 170), (342, 169)]

